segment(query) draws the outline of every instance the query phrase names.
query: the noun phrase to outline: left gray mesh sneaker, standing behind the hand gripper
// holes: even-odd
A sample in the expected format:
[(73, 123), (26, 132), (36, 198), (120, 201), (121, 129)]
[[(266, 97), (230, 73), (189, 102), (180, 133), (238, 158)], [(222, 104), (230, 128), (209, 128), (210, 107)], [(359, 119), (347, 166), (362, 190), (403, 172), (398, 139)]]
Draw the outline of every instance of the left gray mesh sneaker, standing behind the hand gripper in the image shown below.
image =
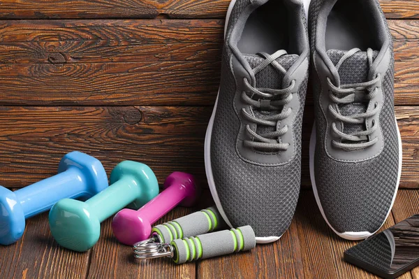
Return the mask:
[(284, 234), (300, 192), (305, 18), (301, 0), (233, 0), (228, 9), (205, 169), (223, 218), (251, 225), (258, 243)]

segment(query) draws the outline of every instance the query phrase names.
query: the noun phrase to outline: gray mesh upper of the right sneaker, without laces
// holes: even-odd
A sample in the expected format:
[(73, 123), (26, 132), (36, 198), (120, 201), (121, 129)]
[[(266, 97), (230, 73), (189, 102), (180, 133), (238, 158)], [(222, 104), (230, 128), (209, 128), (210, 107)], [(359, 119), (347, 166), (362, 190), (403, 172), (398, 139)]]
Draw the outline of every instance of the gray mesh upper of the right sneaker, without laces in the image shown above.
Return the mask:
[[(368, 0), (376, 8), (379, 4), (375, 0)], [(321, 13), (324, 0), (313, 0), (310, 6), (311, 51), (318, 55), (316, 45), (318, 38), (318, 15)], [(381, 20), (385, 17), (381, 11)], [(338, 232), (368, 231), (373, 233), (385, 221), (391, 209), (392, 200), (398, 184), (399, 173), (399, 138), (394, 111), (394, 58), (390, 31), (385, 24), (385, 32), (390, 40), (390, 62), (385, 76), (382, 78), (383, 105), (379, 113), (379, 125), (383, 137), (383, 148), (378, 156), (372, 159), (360, 159), (360, 162), (342, 162), (332, 158), (325, 148), (325, 136), (332, 130), (328, 127), (327, 119), (322, 110), (321, 94), (327, 93), (322, 87), (322, 79), (318, 71), (311, 76), (314, 88), (314, 108), (316, 119), (316, 148), (314, 155), (315, 184), (325, 217), (330, 225)], [(383, 49), (382, 52), (388, 50)], [(315, 53), (316, 52), (316, 53)], [(341, 50), (329, 50), (327, 56), (332, 65), (336, 65), (344, 55)], [(376, 59), (378, 52), (374, 52)], [(358, 52), (348, 59), (339, 70), (341, 84), (359, 83), (367, 81), (367, 57), (365, 52)], [(323, 94), (326, 94), (323, 93)], [(339, 108), (344, 115), (365, 113), (367, 107), (362, 103), (351, 103)], [(344, 126), (346, 134), (365, 129), (362, 124)], [(351, 151), (348, 151), (348, 154)]]

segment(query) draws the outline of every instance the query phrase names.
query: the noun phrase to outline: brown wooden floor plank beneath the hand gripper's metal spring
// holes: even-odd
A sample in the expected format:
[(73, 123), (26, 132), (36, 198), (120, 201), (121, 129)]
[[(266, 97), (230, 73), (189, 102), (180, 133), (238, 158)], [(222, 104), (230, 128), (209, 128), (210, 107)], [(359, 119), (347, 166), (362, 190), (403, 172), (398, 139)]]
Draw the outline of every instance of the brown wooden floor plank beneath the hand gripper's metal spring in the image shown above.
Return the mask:
[[(192, 213), (191, 208), (175, 208), (159, 220), (168, 222)], [(134, 259), (131, 246), (117, 242), (112, 234), (112, 219), (102, 223), (101, 238), (91, 250), (87, 278), (196, 278), (195, 262), (176, 265), (170, 259), (139, 261)]]

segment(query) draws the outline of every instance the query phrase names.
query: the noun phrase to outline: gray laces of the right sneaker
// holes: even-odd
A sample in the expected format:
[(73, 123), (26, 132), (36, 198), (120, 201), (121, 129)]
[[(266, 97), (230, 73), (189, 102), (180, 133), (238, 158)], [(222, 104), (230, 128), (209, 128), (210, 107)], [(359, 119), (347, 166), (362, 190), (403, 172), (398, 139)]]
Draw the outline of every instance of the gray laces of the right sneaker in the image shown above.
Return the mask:
[[(349, 50), (346, 52), (346, 54), (341, 57), (339, 62), (336, 65), (337, 71), (339, 71), (340, 66), (345, 62), (346, 59), (351, 57), (352, 55), (355, 55), (356, 52), (360, 52), (361, 50), (359, 48), (354, 48), (352, 50)], [(367, 50), (367, 58), (368, 58), (368, 64), (371, 68), (373, 63), (373, 51), (371, 48)], [(380, 82), (380, 74), (378, 73), (376, 78), (373, 80), (369, 80), (365, 83), (353, 83), (348, 85), (341, 85), (339, 87), (336, 87), (333, 85), (330, 78), (328, 78), (328, 85), (329, 85), (329, 97), (332, 100), (333, 103), (339, 105), (339, 104), (348, 104), (348, 103), (354, 103), (355, 102), (355, 93), (356, 92), (365, 92), (364, 98), (366, 101), (370, 101), (374, 99), (376, 94), (378, 94), (378, 83)], [(344, 124), (362, 124), (365, 122), (365, 120), (369, 117), (372, 117), (376, 115), (380, 111), (380, 105), (378, 103), (374, 103), (374, 108), (371, 110), (367, 110), (365, 113), (358, 113), (354, 115), (341, 115), (339, 110), (333, 106), (333, 104), (329, 105), (329, 111), (332, 113), (333, 117), (335, 117), (336, 120), (339, 120), (343, 122)], [(346, 151), (353, 151), (353, 150), (362, 150), (365, 148), (368, 148), (372, 145), (374, 145), (378, 138), (374, 138), (371, 141), (369, 141), (369, 136), (376, 131), (378, 128), (376, 122), (372, 121), (372, 127), (367, 128), (362, 131), (355, 131), (351, 134), (345, 134), (342, 131), (339, 131), (336, 126), (336, 122), (332, 123), (332, 131), (339, 136), (341, 141), (335, 141), (332, 140), (332, 145), (335, 146), (335, 148), (341, 148), (342, 150)]]

